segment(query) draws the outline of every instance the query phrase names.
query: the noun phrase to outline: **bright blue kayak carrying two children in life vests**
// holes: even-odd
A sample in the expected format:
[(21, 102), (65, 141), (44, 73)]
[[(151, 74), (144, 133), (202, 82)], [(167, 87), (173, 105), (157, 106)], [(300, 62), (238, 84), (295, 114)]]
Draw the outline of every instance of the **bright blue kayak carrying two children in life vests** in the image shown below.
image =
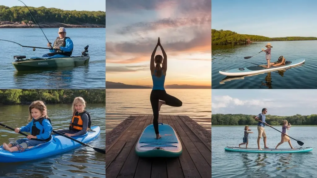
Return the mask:
[[(88, 143), (93, 141), (95, 138), (99, 137), (99, 135), (100, 135), (100, 127), (93, 126), (91, 127), (91, 130), (88, 130), (85, 135), (72, 137), (72, 138), (75, 138), (76, 140), (83, 143)], [(41, 158), (45, 158), (48, 156), (56, 155), (62, 152), (75, 149), (79, 146), (82, 146), (82, 145), (66, 137), (55, 134), (55, 135), (52, 135), (52, 138), (49, 142), (26, 149), (22, 153), (20, 153), (19, 151), (11, 153), (9, 151), (4, 150), (1, 145), (0, 146), (0, 162), (23, 162), (23, 161), (41, 159)]]

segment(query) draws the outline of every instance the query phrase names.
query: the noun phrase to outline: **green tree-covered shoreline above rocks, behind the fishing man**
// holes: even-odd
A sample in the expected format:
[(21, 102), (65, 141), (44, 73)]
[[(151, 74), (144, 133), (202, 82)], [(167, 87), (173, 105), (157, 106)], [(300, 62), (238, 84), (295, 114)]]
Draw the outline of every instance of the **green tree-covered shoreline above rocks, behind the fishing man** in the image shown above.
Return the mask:
[[(106, 12), (61, 10), (46, 7), (29, 7), (42, 28), (106, 28)], [(37, 28), (25, 6), (0, 5), (0, 28)]]

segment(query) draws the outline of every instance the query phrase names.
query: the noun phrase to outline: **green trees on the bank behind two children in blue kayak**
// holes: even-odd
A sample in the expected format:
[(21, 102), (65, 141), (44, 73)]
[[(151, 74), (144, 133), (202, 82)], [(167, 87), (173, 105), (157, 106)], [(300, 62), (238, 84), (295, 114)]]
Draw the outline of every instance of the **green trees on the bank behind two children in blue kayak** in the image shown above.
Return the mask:
[(71, 104), (74, 98), (79, 96), (87, 103), (106, 103), (105, 89), (2, 89), (0, 105), (28, 105), (36, 100), (42, 100), (46, 104)]

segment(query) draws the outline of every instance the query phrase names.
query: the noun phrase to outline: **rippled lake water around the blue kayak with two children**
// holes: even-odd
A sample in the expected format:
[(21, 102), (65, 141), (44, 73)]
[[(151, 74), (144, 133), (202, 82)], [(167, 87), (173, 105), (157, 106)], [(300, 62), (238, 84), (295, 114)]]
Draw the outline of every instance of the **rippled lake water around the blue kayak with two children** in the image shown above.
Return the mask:
[[(29, 105), (0, 105), (0, 122), (16, 128), (28, 123)], [(47, 105), (48, 116), (54, 130), (67, 129), (72, 112), (71, 105)], [(88, 143), (92, 147), (105, 148), (105, 105), (87, 104), (86, 110), (92, 117), (92, 125), (99, 125), (100, 137)], [(0, 143), (23, 138), (0, 126)], [(41, 160), (18, 163), (0, 163), (0, 177), (6, 178), (55, 178), (55, 177), (98, 177), (106, 176), (105, 157), (94, 149), (81, 146), (77, 149)]]

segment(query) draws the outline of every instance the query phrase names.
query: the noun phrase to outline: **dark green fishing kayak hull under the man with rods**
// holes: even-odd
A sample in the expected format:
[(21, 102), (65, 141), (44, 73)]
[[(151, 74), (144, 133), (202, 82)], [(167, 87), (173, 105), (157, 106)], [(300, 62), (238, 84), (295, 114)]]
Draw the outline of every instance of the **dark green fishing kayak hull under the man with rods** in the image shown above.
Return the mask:
[(43, 68), (72, 67), (87, 64), (90, 56), (74, 56), (68, 58), (42, 59), (31, 58), (12, 62), (17, 71), (31, 71)]

